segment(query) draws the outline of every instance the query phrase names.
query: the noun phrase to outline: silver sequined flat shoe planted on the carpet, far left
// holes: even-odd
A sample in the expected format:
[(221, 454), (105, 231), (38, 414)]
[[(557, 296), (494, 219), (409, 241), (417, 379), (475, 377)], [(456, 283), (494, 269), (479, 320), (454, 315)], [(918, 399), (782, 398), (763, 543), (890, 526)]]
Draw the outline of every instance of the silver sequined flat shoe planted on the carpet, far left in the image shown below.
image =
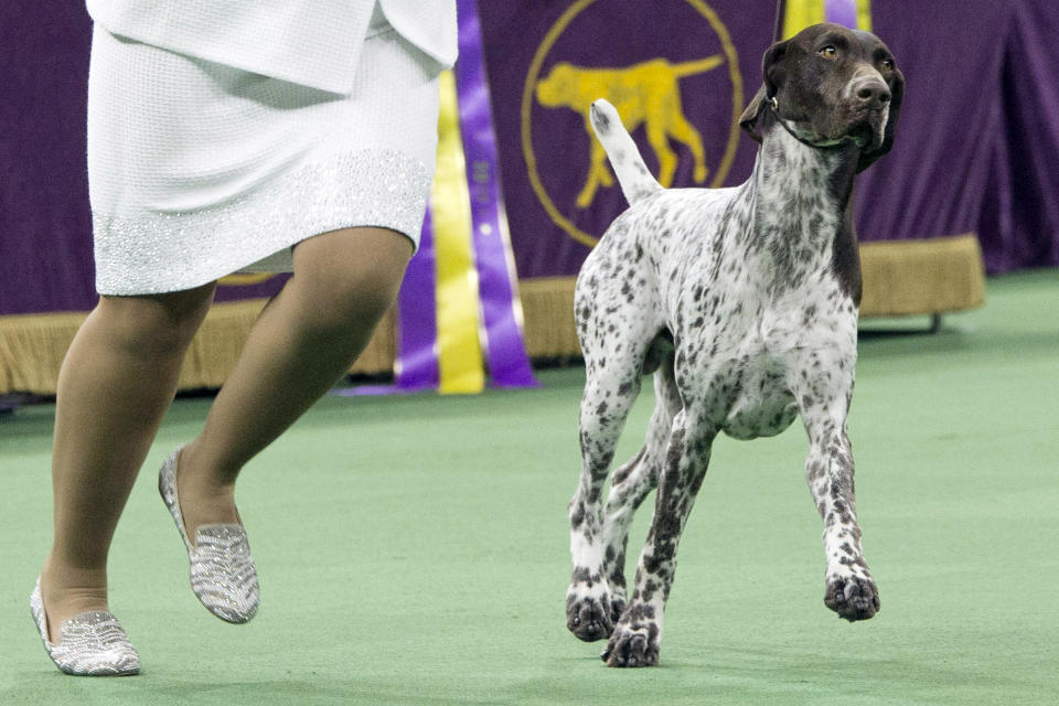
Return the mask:
[(44, 650), (60, 670), (77, 676), (129, 676), (140, 673), (140, 655), (121, 623), (106, 610), (77, 613), (58, 629), (58, 643), (47, 639), (47, 618), (41, 599), (41, 579), (30, 596), (30, 610)]

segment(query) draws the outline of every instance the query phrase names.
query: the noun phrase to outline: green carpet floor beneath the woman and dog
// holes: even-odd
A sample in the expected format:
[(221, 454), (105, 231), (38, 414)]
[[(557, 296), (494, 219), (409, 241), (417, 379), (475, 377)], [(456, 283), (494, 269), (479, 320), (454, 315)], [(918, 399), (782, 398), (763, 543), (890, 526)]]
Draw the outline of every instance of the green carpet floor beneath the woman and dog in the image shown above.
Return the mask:
[[(208, 405), (178, 400), (111, 552), (143, 665), (122, 680), (63, 676), (30, 620), (54, 409), (22, 408), (0, 417), (0, 704), (1059, 703), (1057, 302), (1059, 271), (1031, 272), (991, 280), (937, 335), (863, 325), (849, 427), (873, 620), (823, 605), (801, 426), (719, 440), (650, 670), (607, 668), (565, 628), (577, 370), (319, 403), (240, 480), (264, 601), (240, 627), (189, 590), (154, 488)], [(650, 408), (645, 391), (622, 456)]]

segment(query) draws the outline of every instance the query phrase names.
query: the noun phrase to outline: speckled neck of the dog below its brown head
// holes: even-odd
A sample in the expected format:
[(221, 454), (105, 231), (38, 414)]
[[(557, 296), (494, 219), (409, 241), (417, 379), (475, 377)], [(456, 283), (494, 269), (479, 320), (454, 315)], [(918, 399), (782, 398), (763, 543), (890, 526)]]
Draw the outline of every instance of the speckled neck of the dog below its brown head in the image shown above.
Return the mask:
[(860, 299), (853, 223), (856, 145), (815, 148), (766, 121), (753, 174), (747, 250), (769, 270), (777, 290), (798, 287), (831, 268), (843, 290)]

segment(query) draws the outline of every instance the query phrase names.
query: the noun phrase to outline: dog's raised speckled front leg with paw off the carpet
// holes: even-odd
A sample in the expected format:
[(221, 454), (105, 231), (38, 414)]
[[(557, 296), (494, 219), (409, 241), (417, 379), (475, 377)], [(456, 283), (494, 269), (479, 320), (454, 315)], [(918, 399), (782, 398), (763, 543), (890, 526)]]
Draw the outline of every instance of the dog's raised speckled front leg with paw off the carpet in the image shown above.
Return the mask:
[(879, 610), (879, 592), (860, 549), (853, 452), (846, 432), (848, 399), (848, 394), (830, 399), (803, 395), (801, 414), (809, 434), (805, 479), (824, 521), (824, 603), (854, 621), (866, 620)]

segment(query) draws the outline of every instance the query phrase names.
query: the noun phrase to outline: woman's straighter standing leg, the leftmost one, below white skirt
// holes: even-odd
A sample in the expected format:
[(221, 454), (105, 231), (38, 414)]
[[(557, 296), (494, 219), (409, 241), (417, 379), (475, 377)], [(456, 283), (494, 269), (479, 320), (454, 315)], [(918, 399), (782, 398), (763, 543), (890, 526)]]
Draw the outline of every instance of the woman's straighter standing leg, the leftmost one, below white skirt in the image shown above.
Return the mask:
[(53, 642), (71, 616), (107, 607), (110, 539), (213, 290), (103, 297), (66, 353), (52, 452), (55, 539), (41, 575)]

